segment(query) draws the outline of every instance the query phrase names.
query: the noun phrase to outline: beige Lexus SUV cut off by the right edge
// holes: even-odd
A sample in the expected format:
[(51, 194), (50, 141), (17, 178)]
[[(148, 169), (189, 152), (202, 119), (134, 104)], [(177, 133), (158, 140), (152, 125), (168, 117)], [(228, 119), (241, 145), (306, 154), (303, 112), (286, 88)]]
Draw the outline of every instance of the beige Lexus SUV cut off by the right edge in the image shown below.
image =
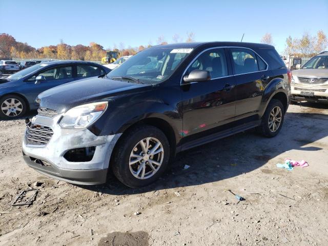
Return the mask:
[(292, 101), (328, 103), (328, 51), (296, 65), (292, 77)]

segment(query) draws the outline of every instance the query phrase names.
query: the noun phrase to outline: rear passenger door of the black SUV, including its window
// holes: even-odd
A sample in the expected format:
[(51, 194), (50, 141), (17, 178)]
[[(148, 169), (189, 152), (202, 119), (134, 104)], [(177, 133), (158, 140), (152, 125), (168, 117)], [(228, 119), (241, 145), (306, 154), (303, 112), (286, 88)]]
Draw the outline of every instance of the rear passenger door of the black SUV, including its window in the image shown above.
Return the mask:
[(229, 48), (235, 78), (236, 120), (256, 120), (271, 73), (265, 61), (248, 48)]

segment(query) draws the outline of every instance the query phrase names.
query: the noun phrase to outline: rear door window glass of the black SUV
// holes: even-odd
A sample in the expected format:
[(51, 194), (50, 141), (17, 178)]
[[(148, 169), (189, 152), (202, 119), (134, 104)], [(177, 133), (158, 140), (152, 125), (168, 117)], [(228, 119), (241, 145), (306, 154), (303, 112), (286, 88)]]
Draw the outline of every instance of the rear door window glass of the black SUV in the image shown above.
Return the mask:
[(230, 52), (233, 57), (235, 74), (259, 71), (257, 58), (253, 51), (242, 48), (231, 48)]

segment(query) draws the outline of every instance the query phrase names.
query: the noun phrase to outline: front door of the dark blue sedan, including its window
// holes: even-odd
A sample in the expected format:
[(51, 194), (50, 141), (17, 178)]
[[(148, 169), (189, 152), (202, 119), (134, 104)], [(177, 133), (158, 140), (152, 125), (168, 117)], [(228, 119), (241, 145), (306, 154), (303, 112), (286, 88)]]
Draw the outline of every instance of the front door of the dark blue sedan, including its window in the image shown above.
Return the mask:
[[(39, 75), (43, 75), (46, 80), (41, 81), (41, 83), (38, 85), (35, 85), (35, 78)], [(73, 65), (51, 67), (40, 71), (25, 80), (26, 84), (24, 85), (24, 91), (28, 97), (27, 99), (29, 100), (30, 104), (36, 105), (35, 98), (38, 94), (53, 87), (71, 82), (73, 80)]]

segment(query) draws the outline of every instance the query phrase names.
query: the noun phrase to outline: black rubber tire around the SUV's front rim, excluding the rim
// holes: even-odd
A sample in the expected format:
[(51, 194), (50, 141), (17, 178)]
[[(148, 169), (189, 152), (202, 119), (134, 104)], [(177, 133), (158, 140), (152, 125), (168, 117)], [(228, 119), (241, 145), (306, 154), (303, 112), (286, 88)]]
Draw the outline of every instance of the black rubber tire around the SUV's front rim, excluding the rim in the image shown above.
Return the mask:
[[(161, 142), (164, 149), (164, 158), (159, 170), (152, 177), (138, 179), (134, 177), (130, 171), (129, 158), (134, 146), (141, 139), (146, 137), (154, 137)], [(119, 147), (115, 152), (114, 163), (110, 163), (110, 165), (112, 165), (112, 170), (115, 176), (124, 183), (124, 185), (131, 188), (147, 186), (158, 179), (166, 171), (170, 158), (170, 146), (167, 137), (162, 131), (153, 126), (139, 126), (130, 130), (128, 134), (123, 136), (123, 138), (124, 139), (118, 143)]]

